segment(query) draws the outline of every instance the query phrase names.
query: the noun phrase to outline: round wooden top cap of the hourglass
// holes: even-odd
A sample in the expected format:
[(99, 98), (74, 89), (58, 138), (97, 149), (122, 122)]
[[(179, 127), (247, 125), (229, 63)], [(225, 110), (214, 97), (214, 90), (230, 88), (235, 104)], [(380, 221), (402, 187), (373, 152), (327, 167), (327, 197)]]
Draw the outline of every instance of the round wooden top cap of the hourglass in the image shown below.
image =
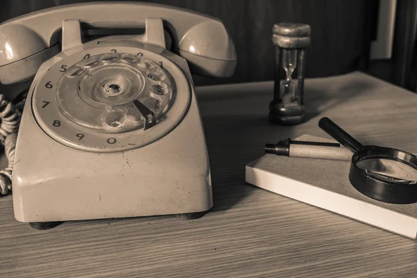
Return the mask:
[(272, 42), (282, 48), (305, 48), (310, 44), (311, 28), (307, 24), (282, 22), (272, 27)]

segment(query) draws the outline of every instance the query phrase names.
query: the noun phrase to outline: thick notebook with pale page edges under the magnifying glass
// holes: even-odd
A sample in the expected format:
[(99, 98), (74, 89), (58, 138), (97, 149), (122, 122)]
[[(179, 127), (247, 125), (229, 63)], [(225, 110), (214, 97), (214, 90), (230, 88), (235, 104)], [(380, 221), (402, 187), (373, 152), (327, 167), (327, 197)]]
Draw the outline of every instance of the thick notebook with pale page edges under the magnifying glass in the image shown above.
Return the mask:
[[(304, 135), (296, 140), (335, 142)], [(416, 239), (417, 203), (388, 204), (359, 193), (348, 179), (350, 161), (265, 154), (246, 165), (245, 181), (386, 231)]]

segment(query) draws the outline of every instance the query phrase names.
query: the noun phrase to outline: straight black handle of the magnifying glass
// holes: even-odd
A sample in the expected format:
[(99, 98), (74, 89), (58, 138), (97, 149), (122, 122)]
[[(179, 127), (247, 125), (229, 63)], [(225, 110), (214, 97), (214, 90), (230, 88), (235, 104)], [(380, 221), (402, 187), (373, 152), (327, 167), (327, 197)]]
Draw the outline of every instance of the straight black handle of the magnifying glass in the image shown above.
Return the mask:
[(341, 129), (340, 126), (332, 122), (332, 120), (330, 120), (328, 117), (322, 117), (320, 121), (318, 121), (318, 126), (320, 126), (320, 129), (329, 134), (329, 136), (332, 136), (332, 138), (337, 140), (339, 143), (341, 143), (341, 145), (353, 153), (357, 152), (363, 147), (360, 142), (350, 136), (346, 131)]

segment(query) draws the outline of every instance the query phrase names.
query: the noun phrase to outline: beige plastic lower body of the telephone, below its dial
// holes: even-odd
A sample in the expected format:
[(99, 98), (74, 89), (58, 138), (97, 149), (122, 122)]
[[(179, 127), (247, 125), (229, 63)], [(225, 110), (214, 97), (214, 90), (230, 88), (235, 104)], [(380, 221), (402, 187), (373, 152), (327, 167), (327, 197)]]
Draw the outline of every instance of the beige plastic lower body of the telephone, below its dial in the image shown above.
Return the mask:
[[(26, 106), (31, 98), (28, 95)], [(13, 206), (19, 222), (193, 215), (213, 206), (208, 152), (193, 88), (181, 122), (142, 147), (108, 153), (67, 147), (39, 128), (30, 109), (22, 115), (18, 145)]]

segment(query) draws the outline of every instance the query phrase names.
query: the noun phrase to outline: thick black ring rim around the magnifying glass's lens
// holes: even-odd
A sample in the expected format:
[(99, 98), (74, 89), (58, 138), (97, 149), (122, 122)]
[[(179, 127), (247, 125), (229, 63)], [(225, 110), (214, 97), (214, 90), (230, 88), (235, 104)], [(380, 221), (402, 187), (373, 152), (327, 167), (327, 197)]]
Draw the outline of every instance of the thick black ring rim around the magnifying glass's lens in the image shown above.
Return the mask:
[(370, 176), (357, 166), (359, 161), (370, 158), (384, 158), (399, 161), (414, 167), (417, 171), (417, 156), (393, 149), (378, 146), (364, 146), (352, 156), (349, 180), (360, 193), (392, 204), (411, 204), (417, 202), (417, 183), (387, 182)]

